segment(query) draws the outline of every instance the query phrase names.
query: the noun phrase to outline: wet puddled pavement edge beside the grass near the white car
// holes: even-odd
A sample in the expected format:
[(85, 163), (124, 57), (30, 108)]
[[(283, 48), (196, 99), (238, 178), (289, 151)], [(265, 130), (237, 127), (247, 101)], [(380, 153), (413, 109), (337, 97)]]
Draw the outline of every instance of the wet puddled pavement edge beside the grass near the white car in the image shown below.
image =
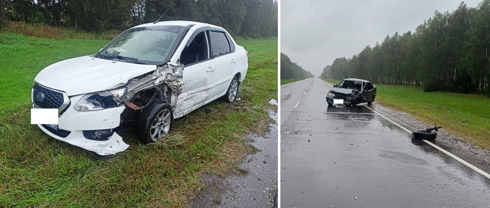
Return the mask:
[(277, 113), (269, 111), (274, 123), (264, 135), (245, 135), (258, 149), (239, 164), (244, 175), (221, 178), (215, 174), (203, 174), (207, 186), (191, 202), (193, 208), (272, 208), (277, 207)]

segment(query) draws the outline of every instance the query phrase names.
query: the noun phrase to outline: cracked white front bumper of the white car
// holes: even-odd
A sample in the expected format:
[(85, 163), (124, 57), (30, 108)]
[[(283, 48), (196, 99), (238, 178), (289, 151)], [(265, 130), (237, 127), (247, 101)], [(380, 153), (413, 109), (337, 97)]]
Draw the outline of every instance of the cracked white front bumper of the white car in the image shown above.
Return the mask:
[[(71, 103), (77, 103), (84, 94), (70, 97)], [(65, 141), (83, 149), (93, 151), (99, 155), (113, 155), (122, 152), (129, 147), (123, 142), (121, 136), (116, 132), (107, 140), (98, 141), (86, 139), (83, 130), (115, 129), (121, 122), (121, 114), (125, 107), (103, 109), (98, 111), (76, 111), (73, 106), (69, 106), (66, 111), (58, 118), (59, 129), (69, 131), (66, 137), (53, 134), (43, 125), (39, 128), (54, 139)], [(49, 127), (48, 127), (49, 128)]]

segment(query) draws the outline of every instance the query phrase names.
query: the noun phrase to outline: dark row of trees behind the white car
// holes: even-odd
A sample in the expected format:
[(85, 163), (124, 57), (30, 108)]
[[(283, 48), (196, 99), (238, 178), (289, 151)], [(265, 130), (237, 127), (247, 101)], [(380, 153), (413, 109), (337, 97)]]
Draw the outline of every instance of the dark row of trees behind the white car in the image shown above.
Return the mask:
[(222, 26), (246, 37), (277, 36), (276, 0), (0, 0), (1, 22), (21, 21), (86, 31), (124, 30), (188, 20)]

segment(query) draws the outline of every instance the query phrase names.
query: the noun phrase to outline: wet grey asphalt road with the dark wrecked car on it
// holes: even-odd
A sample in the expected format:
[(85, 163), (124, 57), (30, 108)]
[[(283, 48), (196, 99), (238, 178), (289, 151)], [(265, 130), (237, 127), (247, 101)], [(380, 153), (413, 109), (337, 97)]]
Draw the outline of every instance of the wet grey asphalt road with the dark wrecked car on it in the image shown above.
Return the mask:
[(490, 207), (490, 179), (366, 104), (327, 107), (331, 88), (319, 78), (281, 87), (281, 207)]

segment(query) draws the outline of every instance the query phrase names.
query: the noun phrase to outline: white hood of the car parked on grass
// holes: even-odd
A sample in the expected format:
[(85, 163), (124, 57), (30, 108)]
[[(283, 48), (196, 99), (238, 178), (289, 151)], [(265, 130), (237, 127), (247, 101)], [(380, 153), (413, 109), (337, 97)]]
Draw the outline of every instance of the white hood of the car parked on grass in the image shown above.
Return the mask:
[(68, 96), (112, 90), (136, 76), (156, 69), (155, 65), (133, 64), (82, 56), (52, 64), (41, 70), (34, 81), (64, 91)]

